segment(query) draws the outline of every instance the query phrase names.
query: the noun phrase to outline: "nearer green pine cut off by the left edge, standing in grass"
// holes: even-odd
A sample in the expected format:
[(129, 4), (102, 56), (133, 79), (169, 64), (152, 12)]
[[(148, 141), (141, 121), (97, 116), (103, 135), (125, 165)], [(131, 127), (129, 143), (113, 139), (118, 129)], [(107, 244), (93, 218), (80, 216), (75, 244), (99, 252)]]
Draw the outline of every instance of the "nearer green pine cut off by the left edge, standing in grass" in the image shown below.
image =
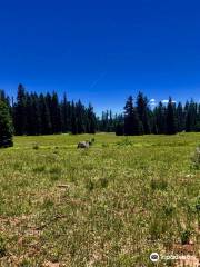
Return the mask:
[(0, 148), (12, 147), (13, 127), (9, 107), (0, 100)]

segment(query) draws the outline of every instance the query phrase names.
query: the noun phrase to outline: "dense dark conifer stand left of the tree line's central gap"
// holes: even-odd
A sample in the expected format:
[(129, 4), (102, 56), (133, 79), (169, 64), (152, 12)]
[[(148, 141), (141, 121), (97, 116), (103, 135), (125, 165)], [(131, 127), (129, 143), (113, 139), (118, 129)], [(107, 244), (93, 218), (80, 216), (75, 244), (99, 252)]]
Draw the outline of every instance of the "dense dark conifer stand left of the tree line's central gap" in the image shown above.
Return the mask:
[[(6, 98), (4, 98), (6, 99)], [(9, 101), (9, 100), (7, 100)], [(94, 134), (97, 128), (93, 107), (84, 107), (79, 100), (70, 102), (57, 92), (27, 92), (18, 87), (17, 100), (10, 107), (16, 135), (52, 135), (61, 132)]]

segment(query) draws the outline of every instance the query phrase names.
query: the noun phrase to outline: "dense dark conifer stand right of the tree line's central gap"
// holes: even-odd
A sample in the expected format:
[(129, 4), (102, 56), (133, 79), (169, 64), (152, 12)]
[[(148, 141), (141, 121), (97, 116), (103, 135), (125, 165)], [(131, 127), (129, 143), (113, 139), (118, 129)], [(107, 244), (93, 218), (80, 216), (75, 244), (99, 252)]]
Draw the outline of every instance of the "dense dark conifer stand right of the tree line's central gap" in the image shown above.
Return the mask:
[(174, 135), (181, 131), (200, 131), (200, 103), (191, 100), (176, 105), (171, 97), (167, 105), (159, 102), (151, 109), (147, 97), (138, 93), (136, 106), (130, 96), (124, 106), (123, 120), (116, 128), (117, 135)]

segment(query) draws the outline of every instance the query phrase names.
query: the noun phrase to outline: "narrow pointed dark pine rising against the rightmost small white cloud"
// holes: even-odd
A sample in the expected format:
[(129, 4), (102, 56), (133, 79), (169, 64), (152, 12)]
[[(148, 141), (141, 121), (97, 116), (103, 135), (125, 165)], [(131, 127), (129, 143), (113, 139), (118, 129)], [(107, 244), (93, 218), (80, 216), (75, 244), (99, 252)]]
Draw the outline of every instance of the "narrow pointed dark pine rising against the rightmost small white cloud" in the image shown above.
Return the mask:
[(176, 126), (174, 103), (172, 102), (172, 99), (170, 97), (168, 102), (168, 108), (167, 108), (167, 117), (166, 117), (166, 134), (174, 135), (176, 132), (177, 132), (177, 126)]

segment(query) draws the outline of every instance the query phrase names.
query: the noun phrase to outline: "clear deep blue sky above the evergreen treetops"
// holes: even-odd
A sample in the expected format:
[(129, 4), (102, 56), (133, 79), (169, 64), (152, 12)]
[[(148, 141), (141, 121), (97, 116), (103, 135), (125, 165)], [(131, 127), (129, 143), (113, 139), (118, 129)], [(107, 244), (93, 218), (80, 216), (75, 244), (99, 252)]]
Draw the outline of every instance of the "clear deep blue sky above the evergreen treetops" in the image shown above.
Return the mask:
[(67, 91), (120, 110), (149, 99), (200, 100), (199, 0), (0, 2), (0, 88)]

